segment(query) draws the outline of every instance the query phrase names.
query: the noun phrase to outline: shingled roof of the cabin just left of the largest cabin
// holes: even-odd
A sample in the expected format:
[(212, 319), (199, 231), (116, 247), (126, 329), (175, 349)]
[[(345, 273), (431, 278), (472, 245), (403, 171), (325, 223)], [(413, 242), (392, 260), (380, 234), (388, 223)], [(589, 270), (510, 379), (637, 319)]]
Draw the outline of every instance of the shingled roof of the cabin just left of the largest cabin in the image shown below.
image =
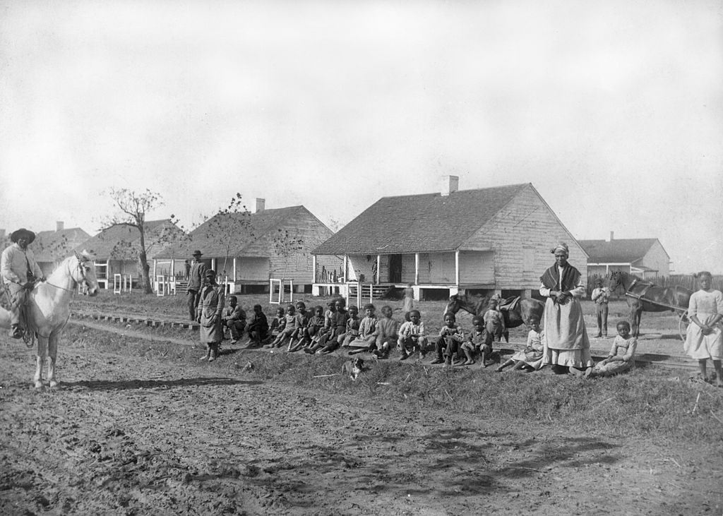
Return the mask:
[[(267, 236), (268, 233), (280, 228), (286, 220), (298, 218), (302, 213), (314, 217), (309, 210), (301, 205), (273, 208), (250, 214), (249, 223), (252, 238), (249, 238), (245, 233), (234, 236), (228, 255), (233, 257), (267, 257), (268, 251), (263, 246), (255, 246), (254, 249), (250, 248)], [(244, 216), (248, 215), (244, 213), (218, 213), (191, 231), (189, 241), (168, 246), (153, 257), (156, 259), (190, 257), (194, 249), (202, 251), (204, 257), (226, 256), (226, 245), (218, 240), (216, 233), (224, 231), (222, 228), (233, 228), (234, 220), (240, 220)]]

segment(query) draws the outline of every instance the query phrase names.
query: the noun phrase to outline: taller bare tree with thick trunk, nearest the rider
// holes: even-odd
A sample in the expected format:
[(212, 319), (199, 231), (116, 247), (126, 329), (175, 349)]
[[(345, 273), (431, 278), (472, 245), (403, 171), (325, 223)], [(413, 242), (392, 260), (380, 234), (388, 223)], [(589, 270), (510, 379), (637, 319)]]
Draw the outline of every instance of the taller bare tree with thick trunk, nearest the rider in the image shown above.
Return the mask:
[(120, 212), (106, 218), (102, 223), (103, 229), (115, 225), (125, 225), (129, 228), (135, 228), (140, 236), (138, 245), (134, 245), (132, 241), (121, 241), (116, 244), (111, 254), (118, 258), (137, 259), (140, 266), (143, 291), (147, 294), (153, 293), (150, 282), (148, 251), (155, 244), (155, 241), (147, 242), (148, 228), (145, 216), (147, 212), (163, 206), (161, 194), (151, 192), (149, 189), (146, 189), (145, 192), (135, 192), (127, 188), (111, 188), (108, 194), (116, 203)]

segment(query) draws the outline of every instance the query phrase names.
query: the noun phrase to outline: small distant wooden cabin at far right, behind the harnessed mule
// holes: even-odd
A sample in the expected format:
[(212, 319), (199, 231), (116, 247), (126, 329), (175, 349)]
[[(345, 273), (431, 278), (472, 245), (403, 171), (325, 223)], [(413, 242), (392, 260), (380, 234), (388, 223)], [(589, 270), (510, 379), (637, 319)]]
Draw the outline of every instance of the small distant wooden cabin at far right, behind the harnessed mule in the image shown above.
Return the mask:
[(621, 270), (643, 279), (670, 274), (670, 256), (657, 238), (580, 240), (588, 258), (588, 273), (607, 276)]

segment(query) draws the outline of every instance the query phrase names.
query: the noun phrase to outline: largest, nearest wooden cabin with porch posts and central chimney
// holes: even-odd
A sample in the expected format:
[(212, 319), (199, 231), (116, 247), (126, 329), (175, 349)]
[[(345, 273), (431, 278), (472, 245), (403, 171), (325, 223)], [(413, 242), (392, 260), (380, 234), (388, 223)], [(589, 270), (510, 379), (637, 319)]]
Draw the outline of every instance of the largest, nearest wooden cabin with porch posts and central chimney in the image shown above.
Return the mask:
[[(314, 249), (317, 259), (343, 257), (341, 293), (361, 282), (379, 291), (411, 284), (418, 299), (460, 291), (536, 296), (558, 241), (586, 277), (587, 254), (532, 184), (458, 190), (449, 176), (446, 185), (440, 193), (382, 197)], [(314, 293), (338, 288), (316, 272)]]

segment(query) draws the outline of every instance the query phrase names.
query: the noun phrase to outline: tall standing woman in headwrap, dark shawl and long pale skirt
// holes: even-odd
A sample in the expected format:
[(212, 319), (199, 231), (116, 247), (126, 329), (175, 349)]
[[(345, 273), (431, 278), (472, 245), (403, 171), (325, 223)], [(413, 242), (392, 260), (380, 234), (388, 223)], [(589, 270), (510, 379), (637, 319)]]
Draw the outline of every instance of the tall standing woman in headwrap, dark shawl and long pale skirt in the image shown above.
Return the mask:
[(585, 295), (582, 275), (568, 263), (568, 245), (557, 244), (555, 265), (542, 275), (540, 295), (544, 306), (543, 364), (552, 364), (557, 374), (584, 374), (593, 366), (583, 311), (579, 298)]

